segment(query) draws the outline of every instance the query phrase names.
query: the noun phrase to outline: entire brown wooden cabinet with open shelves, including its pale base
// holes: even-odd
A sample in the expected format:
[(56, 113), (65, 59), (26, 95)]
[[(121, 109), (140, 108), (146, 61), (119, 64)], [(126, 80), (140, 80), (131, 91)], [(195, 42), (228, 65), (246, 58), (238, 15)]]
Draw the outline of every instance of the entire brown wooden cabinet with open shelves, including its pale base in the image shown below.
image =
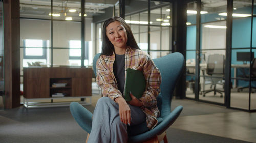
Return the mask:
[[(53, 87), (54, 83), (66, 83), (66, 85), (65, 87)], [(52, 97), (55, 93), (63, 93), (64, 97)], [(92, 68), (24, 68), (23, 105), (26, 108), (68, 106), (74, 98), (89, 98), (89, 103), (86, 100), (79, 102), (82, 105), (89, 105), (91, 96)], [(70, 99), (71, 101), (55, 102), (56, 99)]]

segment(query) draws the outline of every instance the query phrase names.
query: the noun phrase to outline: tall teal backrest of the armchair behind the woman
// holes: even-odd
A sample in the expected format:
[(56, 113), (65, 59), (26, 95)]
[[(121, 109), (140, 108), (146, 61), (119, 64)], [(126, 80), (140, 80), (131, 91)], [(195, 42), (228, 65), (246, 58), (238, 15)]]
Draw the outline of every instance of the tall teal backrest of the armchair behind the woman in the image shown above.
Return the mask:
[[(100, 56), (96, 54), (93, 59), (93, 71), (96, 75), (96, 61)], [(160, 70), (162, 82), (160, 85), (161, 92), (157, 97), (157, 106), (161, 112), (160, 117), (164, 118), (170, 113), (170, 104), (175, 85), (184, 69), (184, 56), (175, 52), (161, 58), (153, 59), (155, 65)]]

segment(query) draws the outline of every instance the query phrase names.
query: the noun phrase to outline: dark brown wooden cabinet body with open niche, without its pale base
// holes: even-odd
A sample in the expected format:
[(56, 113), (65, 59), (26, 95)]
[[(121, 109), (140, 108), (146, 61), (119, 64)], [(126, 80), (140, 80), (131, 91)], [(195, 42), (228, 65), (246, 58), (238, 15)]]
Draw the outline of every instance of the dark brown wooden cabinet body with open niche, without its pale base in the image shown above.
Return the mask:
[[(50, 98), (55, 93), (65, 97), (92, 95), (92, 68), (24, 68), (24, 97)], [(53, 87), (66, 83), (65, 87)]]

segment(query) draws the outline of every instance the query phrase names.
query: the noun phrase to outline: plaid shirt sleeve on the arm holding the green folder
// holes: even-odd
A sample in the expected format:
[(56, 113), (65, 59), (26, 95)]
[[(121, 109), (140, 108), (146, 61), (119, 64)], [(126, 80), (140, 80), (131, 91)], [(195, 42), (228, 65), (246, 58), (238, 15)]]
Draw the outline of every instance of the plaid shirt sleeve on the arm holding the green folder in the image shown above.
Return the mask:
[(146, 79), (146, 90), (140, 100), (144, 107), (154, 106), (157, 104), (156, 97), (160, 92), (161, 74), (149, 56), (143, 65), (143, 73)]

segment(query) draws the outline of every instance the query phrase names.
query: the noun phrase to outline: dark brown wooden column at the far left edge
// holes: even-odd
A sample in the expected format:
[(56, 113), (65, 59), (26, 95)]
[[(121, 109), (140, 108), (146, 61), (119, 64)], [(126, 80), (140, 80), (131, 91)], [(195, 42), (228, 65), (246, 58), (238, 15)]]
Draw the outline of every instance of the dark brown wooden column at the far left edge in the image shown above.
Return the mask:
[(20, 106), (19, 0), (3, 0), (5, 49), (5, 108)]

